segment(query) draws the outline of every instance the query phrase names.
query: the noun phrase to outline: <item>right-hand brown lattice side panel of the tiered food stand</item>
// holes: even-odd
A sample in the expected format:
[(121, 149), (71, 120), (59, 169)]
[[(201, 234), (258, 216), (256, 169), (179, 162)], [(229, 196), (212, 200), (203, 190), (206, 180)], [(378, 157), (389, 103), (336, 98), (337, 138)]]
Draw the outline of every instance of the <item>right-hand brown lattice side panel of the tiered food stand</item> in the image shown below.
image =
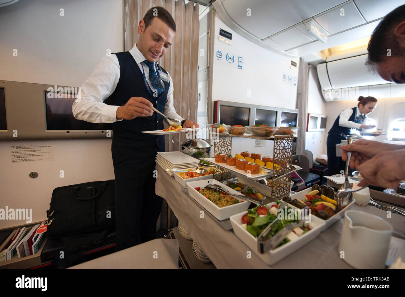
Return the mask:
[(292, 170), (292, 144), (293, 135), (276, 135), (274, 137), (273, 160), (274, 164), (279, 166), (273, 167), (273, 178), (271, 185), (271, 200), (279, 200), (290, 194), (291, 173)]

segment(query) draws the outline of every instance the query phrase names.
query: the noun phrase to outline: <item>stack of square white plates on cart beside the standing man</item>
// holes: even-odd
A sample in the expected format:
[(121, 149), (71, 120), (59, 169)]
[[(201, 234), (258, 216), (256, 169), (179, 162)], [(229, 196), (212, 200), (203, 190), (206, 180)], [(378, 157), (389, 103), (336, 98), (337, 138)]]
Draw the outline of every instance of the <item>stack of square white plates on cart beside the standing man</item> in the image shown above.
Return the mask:
[[(166, 169), (187, 169), (189, 167), (197, 167), (200, 160), (190, 157), (183, 152), (161, 152), (156, 156), (156, 163)], [(173, 172), (168, 172), (173, 176)]]

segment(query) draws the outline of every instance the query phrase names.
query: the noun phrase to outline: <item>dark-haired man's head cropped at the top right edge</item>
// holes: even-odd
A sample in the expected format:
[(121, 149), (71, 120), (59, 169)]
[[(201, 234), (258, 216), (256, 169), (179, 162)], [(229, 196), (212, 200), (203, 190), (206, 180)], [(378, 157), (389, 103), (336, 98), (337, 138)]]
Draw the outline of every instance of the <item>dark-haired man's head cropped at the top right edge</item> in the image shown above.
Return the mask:
[(405, 83), (405, 4), (391, 11), (375, 28), (366, 64), (379, 76)]

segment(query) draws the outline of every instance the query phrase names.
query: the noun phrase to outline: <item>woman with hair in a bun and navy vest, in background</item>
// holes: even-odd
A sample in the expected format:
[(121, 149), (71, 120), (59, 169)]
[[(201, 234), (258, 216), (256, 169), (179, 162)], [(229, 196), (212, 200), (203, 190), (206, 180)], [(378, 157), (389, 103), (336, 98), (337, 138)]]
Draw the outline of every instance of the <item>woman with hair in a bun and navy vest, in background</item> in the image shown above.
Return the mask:
[(328, 151), (328, 169), (329, 175), (339, 174), (345, 170), (345, 162), (341, 157), (336, 156), (336, 145), (345, 140), (341, 134), (350, 134), (351, 128), (356, 129), (371, 129), (375, 125), (363, 124), (367, 118), (366, 114), (373, 111), (377, 104), (377, 99), (374, 97), (358, 97), (359, 103), (357, 107), (348, 108), (343, 110), (333, 123), (332, 128), (328, 132), (328, 139), (326, 140), (326, 148)]

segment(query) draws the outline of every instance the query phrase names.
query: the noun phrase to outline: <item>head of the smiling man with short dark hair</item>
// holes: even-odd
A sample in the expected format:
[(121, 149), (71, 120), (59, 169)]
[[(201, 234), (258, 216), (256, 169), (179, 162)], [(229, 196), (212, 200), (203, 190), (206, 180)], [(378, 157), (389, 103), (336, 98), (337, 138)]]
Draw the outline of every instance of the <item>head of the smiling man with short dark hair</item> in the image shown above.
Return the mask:
[(152, 7), (138, 25), (137, 47), (149, 62), (156, 62), (173, 43), (176, 23), (166, 9)]

